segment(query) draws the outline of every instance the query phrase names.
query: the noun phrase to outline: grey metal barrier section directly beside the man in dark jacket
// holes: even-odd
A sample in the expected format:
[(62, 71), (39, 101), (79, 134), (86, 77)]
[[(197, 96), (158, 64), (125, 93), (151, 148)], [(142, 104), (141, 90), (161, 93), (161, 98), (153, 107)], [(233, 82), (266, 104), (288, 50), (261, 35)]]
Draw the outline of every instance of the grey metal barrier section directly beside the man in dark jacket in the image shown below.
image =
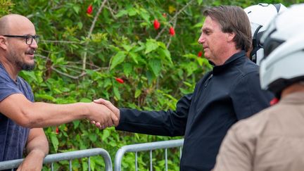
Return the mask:
[(115, 156), (114, 170), (121, 170), (122, 157), (127, 152), (135, 152), (135, 170), (137, 171), (137, 152), (139, 151), (150, 151), (150, 170), (153, 170), (152, 165), (152, 151), (156, 149), (165, 148), (165, 170), (167, 171), (167, 148), (179, 147), (179, 158), (182, 156), (182, 146), (184, 139), (169, 140), (169, 141), (157, 141), (144, 144), (132, 144), (128, 146), (122, 146)]

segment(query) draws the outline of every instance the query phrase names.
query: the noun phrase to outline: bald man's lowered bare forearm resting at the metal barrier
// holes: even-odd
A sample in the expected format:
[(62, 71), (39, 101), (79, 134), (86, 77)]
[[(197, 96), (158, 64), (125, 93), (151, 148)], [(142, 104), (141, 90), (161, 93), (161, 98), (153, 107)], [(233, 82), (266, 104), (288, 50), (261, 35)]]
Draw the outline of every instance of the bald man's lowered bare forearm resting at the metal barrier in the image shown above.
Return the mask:
[(49, 142), (42, 128), (30, 129), (27, 138), (27, 156), (18, 167), (19, 170), (42, 170), (44, 157), (49, 153)]

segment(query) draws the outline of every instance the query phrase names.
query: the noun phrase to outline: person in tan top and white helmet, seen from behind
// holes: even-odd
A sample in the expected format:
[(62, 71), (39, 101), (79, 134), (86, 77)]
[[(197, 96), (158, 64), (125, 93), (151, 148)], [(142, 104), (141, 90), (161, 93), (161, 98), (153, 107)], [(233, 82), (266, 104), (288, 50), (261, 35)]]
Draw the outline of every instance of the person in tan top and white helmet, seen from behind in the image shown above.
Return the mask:
[(279, 102), (237, 122), (224, 138), (214, 170), (281, 171), (304, 168), (304, 4), (278, 15), (261, 41), (262, 89)]

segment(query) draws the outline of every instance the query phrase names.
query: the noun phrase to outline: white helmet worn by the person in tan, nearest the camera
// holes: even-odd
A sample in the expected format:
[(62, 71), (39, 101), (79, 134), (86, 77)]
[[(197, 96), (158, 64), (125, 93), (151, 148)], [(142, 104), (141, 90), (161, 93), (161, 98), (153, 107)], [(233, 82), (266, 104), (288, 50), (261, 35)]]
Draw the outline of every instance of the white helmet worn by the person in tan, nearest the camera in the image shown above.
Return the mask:
[(304, 80), (303, 16), (304, 4), (291, 6), (272, 20), (261, 38), (260, 84), (278, 98), (284, 88)]

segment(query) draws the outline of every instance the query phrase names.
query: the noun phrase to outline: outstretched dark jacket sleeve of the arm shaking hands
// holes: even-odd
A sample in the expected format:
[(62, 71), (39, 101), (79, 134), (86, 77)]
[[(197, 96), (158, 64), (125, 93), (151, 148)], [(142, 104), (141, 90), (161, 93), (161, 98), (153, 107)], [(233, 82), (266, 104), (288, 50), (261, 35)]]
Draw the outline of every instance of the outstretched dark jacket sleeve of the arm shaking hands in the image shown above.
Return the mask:
[(186, 129), (192, 94), (177, 102), (177, 109), (141, 111), (120, 108), (120, 123), (117, 130), (163, 136), (182, 136)]

